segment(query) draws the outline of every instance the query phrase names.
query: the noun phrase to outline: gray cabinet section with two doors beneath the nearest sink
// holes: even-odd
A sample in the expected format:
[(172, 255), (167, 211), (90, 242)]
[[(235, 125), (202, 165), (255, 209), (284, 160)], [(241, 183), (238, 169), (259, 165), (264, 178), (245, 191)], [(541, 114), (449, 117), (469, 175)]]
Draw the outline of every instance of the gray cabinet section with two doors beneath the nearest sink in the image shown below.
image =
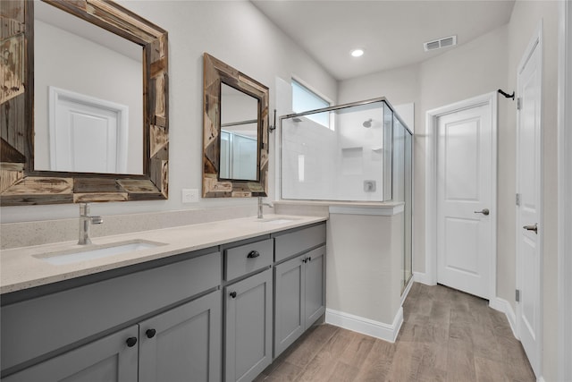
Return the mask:
[(5, 380), (220, 381), (221, 262), (181, 254), (3, 306)]

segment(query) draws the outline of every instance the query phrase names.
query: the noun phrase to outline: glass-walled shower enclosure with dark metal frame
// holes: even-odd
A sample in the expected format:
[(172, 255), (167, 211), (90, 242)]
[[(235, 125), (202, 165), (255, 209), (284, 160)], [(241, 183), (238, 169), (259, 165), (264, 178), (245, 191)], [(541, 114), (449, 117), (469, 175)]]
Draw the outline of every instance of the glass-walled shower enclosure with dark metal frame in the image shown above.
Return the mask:
[(412, 276), (412, 133), (385, 98), (281, 123), (281, 198), (404, 203), (402, 289)]

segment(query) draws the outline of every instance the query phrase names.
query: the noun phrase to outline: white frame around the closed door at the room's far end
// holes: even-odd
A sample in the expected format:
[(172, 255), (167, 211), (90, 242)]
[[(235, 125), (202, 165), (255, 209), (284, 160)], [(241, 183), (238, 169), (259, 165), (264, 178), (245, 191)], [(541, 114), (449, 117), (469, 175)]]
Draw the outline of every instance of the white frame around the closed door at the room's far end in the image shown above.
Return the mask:
[(425, 277), (416, 280), (425, 284), (437, 284), (437, 119), (442, 115), (448, 115), (460, 110), (476, 106), (490, 105), (492, 112), (491, 121), (491, 145), (492, 145), (492, 168), (491, 210), (495, 211), (495, 218), (491, 221), (492, 256), (489, 275), (489, 304), (496, 300), (497, 291), (497, 92), (486, 93), (482, 96), (468, 98), (454, 104), (437, 107), (426, 113), (425, 125)]

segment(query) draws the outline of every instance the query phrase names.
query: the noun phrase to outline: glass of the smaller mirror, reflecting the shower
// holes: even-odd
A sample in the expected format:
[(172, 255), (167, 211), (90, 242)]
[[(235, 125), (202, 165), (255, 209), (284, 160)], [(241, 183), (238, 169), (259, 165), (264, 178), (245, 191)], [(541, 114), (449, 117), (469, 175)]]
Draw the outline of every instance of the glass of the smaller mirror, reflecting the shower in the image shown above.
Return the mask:
[(258, 99), (221, 84), (221, 179), (257, 181)]

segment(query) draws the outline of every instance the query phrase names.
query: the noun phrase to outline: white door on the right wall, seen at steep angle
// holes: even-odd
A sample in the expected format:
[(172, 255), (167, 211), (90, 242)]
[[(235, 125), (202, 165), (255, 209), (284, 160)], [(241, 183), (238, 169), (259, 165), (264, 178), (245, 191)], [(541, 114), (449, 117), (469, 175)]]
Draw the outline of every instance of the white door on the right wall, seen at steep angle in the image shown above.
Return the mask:
[(518, 67), (517, 330), (536, 376), (542, 349), (542, 47), (539, 34)]

